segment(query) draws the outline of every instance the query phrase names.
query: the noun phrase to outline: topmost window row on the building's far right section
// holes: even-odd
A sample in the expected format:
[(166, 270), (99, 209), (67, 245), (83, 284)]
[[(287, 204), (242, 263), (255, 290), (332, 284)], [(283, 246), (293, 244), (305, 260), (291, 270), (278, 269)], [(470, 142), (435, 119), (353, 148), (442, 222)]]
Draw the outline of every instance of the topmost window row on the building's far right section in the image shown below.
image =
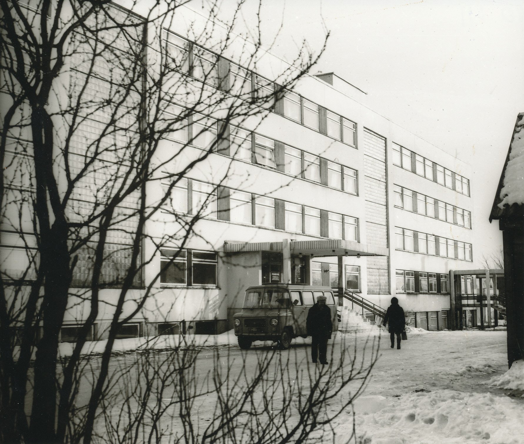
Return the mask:
[(400, 166), (404, 170), (411, 171), (421, 177), (425, 177), (432, 182), (454, 189), (457, 193), (466, 196), (470, 195), (470, 181), (465, 177), (456, 174), (441, 165), (433, 163), (427, 158), (413, 153), (403, 146), (396, 143), (393, 143), (392, 145), (394, 165)]

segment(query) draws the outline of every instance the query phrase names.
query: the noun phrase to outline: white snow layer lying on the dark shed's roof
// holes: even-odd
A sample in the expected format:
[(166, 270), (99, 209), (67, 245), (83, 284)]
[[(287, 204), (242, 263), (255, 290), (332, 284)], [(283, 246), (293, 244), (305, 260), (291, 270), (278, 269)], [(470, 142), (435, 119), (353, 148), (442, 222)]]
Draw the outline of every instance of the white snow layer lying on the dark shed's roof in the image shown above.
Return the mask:
[(511, 142), (511, 152), (504, 172), (504, 186), (500, 190), (503, 208), (505, 204), (524, 204), (524, 117), (517, 122), (515, 137)]

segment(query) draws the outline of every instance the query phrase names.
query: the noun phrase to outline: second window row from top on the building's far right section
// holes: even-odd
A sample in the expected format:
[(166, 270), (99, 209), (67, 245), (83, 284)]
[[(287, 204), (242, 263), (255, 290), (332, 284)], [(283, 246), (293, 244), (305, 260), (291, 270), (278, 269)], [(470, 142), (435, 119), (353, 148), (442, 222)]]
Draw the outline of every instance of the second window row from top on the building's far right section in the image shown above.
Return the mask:
[[(400, 207), (411, 212), (414, 211), (413, 191), (408, 188), (403, 188), (399, 185), (394, 185), (393, 193), (394, 205), (396, 207)], [(417, 213), (436, 219), (445, 220), (453, 225), (471, 228), (471, 212), (463, 208), (455, 207), (451, 204), (446, 204), (445, 202), (442, 202), (442, 200), (436, 200), (420, 193), (416, 194)], [(438, 207), (438, 217), (435, 216), (435, 202), (437, 203), (436, 206)]]

